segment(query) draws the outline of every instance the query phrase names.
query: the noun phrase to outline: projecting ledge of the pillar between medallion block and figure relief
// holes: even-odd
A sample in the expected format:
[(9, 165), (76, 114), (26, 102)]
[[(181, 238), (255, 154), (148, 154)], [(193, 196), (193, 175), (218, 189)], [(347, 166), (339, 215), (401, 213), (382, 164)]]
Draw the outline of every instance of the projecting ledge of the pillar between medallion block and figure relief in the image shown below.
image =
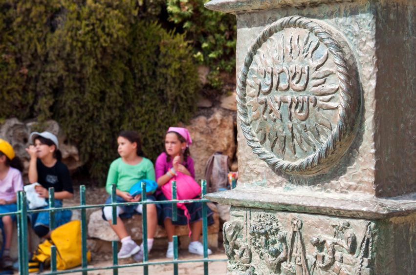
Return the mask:
[(416, 194), (378, 198), (357, 194), (284, 192), (269, 188), (237, 188), (206, 195), (212, 201), (235, 206), (383, 219), (416, 212)]

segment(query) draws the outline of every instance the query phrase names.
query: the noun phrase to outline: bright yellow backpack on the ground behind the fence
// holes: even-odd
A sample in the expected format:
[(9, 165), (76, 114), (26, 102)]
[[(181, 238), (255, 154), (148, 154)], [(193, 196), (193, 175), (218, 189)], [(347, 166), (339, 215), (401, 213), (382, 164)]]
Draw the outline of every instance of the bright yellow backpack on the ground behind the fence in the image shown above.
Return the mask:
[[(39, 244), (29, 262), (29, 272), (42, 272), (50, 266), (51, 246), (56, 246), (56, 268), (64, 270), (81, 265), (81, 221), (72, 220), (52, 231), (51, 239)], [(87, 252), (88, 262), (91, 253)]]

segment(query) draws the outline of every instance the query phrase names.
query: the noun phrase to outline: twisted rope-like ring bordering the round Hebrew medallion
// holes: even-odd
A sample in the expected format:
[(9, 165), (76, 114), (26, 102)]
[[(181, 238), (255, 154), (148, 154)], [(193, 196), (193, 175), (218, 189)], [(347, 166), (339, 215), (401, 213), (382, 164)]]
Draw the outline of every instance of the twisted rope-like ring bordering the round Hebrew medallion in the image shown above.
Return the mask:
[[(313, 155), (309, 155), (305, 159), (300, 159), (294, 162), (280, 159), (262, 147), (259, 139), (251, 131), (246, 106), (246, 80), (250, 65), (253, 62), (254, 56), (257, 54), (257, 50), (260, 49), (263, 43), (272, 35), (289, 27), (306, 29), (313, 33), (320, 42), (324, 43), (333, 56), (340, 84), (340, 108), (338, 108), (339, 118), (335, 129), (332, 130), (328, 139)], [(240, 118), (241, 129), (247, 140), (248, 146), (252, 148), (253, 153), (257, 154), (260, 159), (264, 160), (275, 172), (277, 170), (283, 170), (285, 172), (303, 172), (317, 167), (335, 150), (336, 146), (341, 142), (342, 137), (347, 134), (347, 126), (351, 125), (346, 125), (346, 123), (348, 123), (348, 118), (351, 116), (351, 99), (354, 97), (352, 94), (352, 85), (350, 83), (350, 66), (348, 65), (344, 55), (345, 53), (342, 47), (335, 39), (332, 38), (331, 34), (324, 27), (302, 16), (291, 16), (277, 20), (265, 28), (257, 39), (251, 44), (237, 80), (238, 117)], [(355, 99), (357, 100), (357, 98)], [(345, 150), (347, 150), (347, 148)]]

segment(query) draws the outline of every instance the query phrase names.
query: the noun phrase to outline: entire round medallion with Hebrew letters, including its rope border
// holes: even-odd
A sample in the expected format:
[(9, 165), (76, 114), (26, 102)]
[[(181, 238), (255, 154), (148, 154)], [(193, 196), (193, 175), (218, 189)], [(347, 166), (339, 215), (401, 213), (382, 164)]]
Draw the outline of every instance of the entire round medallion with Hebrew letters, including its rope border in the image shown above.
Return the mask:
[[(238, 79), (241, 129), (275, 171), (314, 174), (340, 157), (359, 110), (355, 61), (328, 27), (294, 16), (253, 42)], [(344, 46), (341, 46), (344, 45)], [(349, 49), (348, 49), (349, 51)]]

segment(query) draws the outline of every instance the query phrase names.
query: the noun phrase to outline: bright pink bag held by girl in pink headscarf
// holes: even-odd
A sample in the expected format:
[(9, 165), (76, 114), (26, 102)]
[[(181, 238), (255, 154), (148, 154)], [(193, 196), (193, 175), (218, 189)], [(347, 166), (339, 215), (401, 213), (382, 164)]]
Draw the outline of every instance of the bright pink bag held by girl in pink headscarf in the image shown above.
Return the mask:
[[(177, 199), (193, 199), (201, 194), (201, 186), (195, 179), (186, 174), (176, 172), (176, 176), (172, 177), (167, 183), (162, 185), (162, 193), (167, 199), (172, 200), (172, 181), (176, 180), (176, 198)], [(177, 207), (183, 210), (184, 215), (188, 220), (189, 236), (191, 236), (191, 227), (189, 221), (191, 215), (185, 206), (185, 203), (176, 203)]]

